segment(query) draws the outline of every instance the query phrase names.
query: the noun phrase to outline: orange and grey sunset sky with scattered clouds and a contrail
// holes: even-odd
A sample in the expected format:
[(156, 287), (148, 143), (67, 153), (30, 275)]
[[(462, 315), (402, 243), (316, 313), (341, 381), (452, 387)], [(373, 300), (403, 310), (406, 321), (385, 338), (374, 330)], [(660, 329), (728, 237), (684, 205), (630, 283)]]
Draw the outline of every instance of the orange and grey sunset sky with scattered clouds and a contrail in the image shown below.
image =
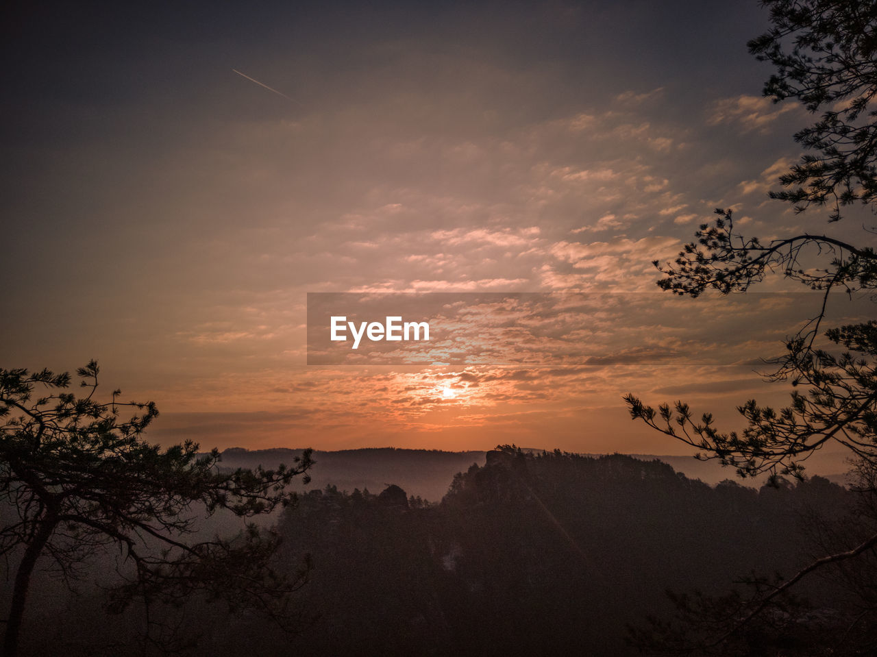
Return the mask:
[[(0, 367), (94, 358), (158, 404), (150, 439), (220, 448), (686, 453), (622, 396), (728, 429), (788, 396), (754, 370), (812, 297), (695, 302), (652, 267), (717, 207), (762, 241), (828, 229), (766, 196), (809, 117), (761, 97), (755, 2), (4, 12)], [(593, 296), (561, 363), (308, 365), (325, 292)]]

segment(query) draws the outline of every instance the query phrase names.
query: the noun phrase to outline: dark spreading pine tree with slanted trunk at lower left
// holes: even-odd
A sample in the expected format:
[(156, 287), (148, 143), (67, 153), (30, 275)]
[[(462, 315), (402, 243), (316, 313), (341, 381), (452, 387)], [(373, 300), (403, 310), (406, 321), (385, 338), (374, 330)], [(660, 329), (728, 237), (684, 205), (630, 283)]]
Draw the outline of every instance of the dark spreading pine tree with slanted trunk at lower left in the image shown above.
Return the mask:
[[(202, 591), (282, 623), (306, 570), (281, 575), (271, 568), (278, 538), (255, 525), (233, 539), (193, 540), (195, 514), (227, 510), (248, 518), (294, 502), (286, 487), (299, 475), (307, 481), (310, 450), (293, 468), (219, 472), (216, 450), (199, 456), (191, 441), (161, 449), (143, 439), (158, 415), (153, 403), (120, 403), (119, 390), (98, 401), (95, 361), (78, 375), (87, 396), (64, 391), (68, 374), (0, 369), (0, 503), (12, 510), (0, 530), (0, 554), (18, 561), (4, 655), (18, 651), (39, 558), (75, 577), (78, 563), (107, 546), (122, 556), (124, 583), (111, 598), (117, 609), (135, 596), (147, 605), (175, 603)], [(120, 420), (131, 409), (136, 414)]]

